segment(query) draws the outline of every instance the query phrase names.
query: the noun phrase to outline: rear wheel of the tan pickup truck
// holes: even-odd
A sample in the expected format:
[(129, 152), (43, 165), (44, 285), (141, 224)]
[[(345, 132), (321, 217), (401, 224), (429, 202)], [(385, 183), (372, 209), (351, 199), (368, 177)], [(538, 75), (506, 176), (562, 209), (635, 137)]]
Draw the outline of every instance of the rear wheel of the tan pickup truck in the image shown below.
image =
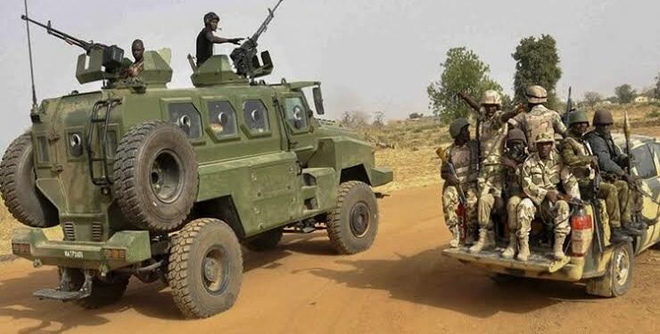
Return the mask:
[(601, 297), (625, 295), (631, 287), (635, 252), (630, 242), (615, 246), (605, 275), (587, 282), (587, 293)]

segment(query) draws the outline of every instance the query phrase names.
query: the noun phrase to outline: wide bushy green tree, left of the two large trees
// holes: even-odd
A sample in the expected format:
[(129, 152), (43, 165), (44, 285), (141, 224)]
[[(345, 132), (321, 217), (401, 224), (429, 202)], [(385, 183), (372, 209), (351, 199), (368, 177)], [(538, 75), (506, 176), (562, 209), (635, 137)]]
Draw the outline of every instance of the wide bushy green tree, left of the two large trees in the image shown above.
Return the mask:
[(470, 106), (457, 97), (459, 92), (478, 99), (486, 90), (502, 91), (502, 87), (489, 77), (491, 69), (488, 65), (466, 47), (451, 48), (440, 66), (440, 80), (428, 86), (426, 92), (433, 114), (439, 116), (443, 123), (465, 117), (470, 112)]

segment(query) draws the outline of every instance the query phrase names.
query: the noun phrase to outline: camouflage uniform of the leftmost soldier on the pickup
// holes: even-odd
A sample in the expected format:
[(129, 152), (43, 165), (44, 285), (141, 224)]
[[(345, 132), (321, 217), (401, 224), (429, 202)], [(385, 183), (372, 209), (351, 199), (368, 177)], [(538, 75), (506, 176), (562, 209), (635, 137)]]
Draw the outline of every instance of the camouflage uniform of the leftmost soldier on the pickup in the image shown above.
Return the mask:
[[(476, 164), (477, 164), (477, 143), (469, 141), (462, 146), (452, 143), (447, 149), (448, 162), (454, 165), (461, 189), (466, 195), (466, 224), (471, 230), (474, 230), (476, 223)], [(447, 179), (450, 174), (450, 168), (447, 163), (441, 166), (441, 177)], [(455, 185), (445, 183), (442, 189), (442, 208), (444, 211), (445, 223), (454, 233), (458, 229), (459, 218), (458, 209), (458, 189)]]

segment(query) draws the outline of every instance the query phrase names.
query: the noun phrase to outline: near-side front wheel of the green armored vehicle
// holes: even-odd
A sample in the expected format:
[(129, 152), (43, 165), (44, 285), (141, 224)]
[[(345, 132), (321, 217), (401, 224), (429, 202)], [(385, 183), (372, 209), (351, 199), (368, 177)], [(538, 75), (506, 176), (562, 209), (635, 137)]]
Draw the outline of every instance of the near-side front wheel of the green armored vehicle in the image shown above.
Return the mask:
[(378, 231), (378, 204), (367, 183), (349, 181), (339, 185), (337, 207), (328, 215), (327, 235), (342, 254), (367, 250)]

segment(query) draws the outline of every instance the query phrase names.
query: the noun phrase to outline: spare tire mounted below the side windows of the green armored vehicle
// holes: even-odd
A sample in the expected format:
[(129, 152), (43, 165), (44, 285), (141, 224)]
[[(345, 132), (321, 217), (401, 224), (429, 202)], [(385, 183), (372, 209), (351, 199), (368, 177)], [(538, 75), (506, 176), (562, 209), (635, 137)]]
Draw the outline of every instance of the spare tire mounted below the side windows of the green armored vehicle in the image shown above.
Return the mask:
[(172, 124), (139, 124), (121, 139), (114, 194), (136, 227), (171, 232), (185, 223), (197, 197), (197, 161), (186, 134)]

